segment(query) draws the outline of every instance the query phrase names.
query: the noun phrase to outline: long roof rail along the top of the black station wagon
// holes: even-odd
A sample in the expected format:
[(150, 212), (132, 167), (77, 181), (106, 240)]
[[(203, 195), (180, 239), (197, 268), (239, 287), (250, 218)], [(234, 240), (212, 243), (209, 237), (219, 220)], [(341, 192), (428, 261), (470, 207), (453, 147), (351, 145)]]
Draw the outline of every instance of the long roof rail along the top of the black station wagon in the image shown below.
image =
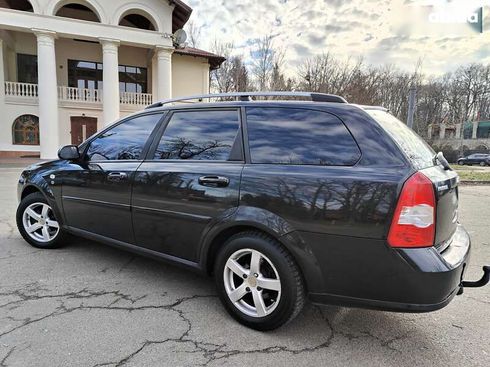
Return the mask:
[(252, 97), (303, 97), (309, 98), (313, 102), (335, 102), (335, 103), (347, 103), (347, 101), (340, 96), (335, 94), (326, 93), (313, 93), (313, 92), (233, 92), (233, 93), (216, 93), (216, 94), (197, 94), (188, 97), (172, 98), (163, 101), (155, 102), (146, 109), (161, 107), (166, 104), (175, 102), (185, 102), (197, 99), (202, 102), (203, 99), (211, 98), (234, 98), (240, 101), (252, 101)]

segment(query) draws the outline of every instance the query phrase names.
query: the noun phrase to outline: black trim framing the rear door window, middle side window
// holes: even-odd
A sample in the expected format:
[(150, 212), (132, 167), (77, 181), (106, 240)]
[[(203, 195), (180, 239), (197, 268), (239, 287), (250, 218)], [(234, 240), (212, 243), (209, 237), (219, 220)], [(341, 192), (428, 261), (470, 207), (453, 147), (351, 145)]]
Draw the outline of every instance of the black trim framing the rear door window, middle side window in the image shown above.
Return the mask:
[[(205, 108), (179, 108), (179, 109), (173, 109), (169, 110), (167, 112), (167, 115), (165, 116), (165, 119), (162, 121), (161, 126), (159, 128), (159, 131), (155, 134), (153, 138), (153, 142), (151, 146), (148, 149), (147, 156), (145, 161), (146, 162), (162, 162), (162, 163), (186, 163), (186, 162), (192, 162), (192, 163), (238, 163), (238, 164), (243, 164), (245, 163), (244, 159), (244, 152), (245, 152), (245, 146), (243, 144), (243, 120), (242, 120), (242, 114), (240, 111), (240, 107), (220, 107), (220, 108), (213, 108), (213, 107), (205, 107)], [(230, 156), (233, 150), (233, 146), (236, 143), (237, 139), (241, 139), (241, 155), (242, 159), (241, 160), (206, 160), (206, 159), (155, 159), (155, 152), (158, 148), (158, 145), (160, 144), (160, 140), (162, 139), (163, 134), (165, 133), (165, 130), (167, 130), (167, 126), (172, 119), (172, 116), (175, 113), (179, 112), (205, 112), (205, 111), (234, 111), (238, 115), (238, 130), (237, 134), (235, 136), (235, 140), (233, 141), (231, 150), (230, 150)]]

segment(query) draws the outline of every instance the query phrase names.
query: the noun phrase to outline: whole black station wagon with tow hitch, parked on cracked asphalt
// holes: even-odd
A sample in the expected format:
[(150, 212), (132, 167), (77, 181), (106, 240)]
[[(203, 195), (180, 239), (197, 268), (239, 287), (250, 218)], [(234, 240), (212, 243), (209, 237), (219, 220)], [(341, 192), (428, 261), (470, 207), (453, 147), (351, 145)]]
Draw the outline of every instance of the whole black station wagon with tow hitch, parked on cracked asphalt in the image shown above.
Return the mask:
[(488, 282), (488, 267), (463, 281), (458, 175), (384, 108), (304, 92), (192, 96), (59, 157), (20, 177), (27, 242), (54, 248), (70, 233), (212, 274), (231, 316), (255, 329), (293, 319), (306, 298), (424, 312)]

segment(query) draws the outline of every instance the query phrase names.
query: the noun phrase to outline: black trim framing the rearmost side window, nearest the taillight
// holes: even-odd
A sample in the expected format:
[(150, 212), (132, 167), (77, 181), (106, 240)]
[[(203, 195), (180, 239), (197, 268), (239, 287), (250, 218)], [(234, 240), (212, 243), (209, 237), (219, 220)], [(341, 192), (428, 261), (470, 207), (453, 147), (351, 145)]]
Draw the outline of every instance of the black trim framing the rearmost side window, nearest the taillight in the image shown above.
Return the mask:
[[(338, 164), (312, 164), (312, 163), (272, 163), (272, 162), (265, 162), (265, 163), (254, 163), (252, 162), (252, 155), (251, 155), (251, 152), (250, 152), (250, 142), (249, 142), (249, 139), (248, 139), (248, 119), (247, 119), (247, 108), (262, 108), (262, 109), (267, 109), (267, 108), (275, 108), (275, 109), (278, 109), (278, 108), (281, 108), (281, 109), (293, 109), (293, 110), (306, 110), (306, 111), (315, 111), (315, 112), (321, 112), (321, 113), (325, 113), (327, 115), (330, 115), (330, 116), (333, 116), (334, 118), (338, 119), (340, 121), (340, 123), (344, 126), (345, 130), (349, 133), (349, 135), (351, 136), (352, 138), (352, 141), (355, 143), (356, 147), (357, 147), (357, 150), (359, 152), (359, 156), (357, 158), (357, 160), (352, 163), (352, 164), (342, 164), (342, 165), (338, 165)], [(278, 165), (278, 166), (307, 166), (307, 167), (354, 167), (356, 166), (357, 164), (359, 164), (359, 162), (361, 161), (362, 159), (362, 150), (361, 150), (361, 147), (359, 146), (359, 143), (357, 142), (356, 138), (354, 137), (354, 135), (352, 134), (352, 131), (350, 131), (349, 127), (345, 124), (344, 120), (342, 120), (339, 116), (337, 116), (336, 114), (334, 113), (331, 113), (330, 111), (327, 111), (325, 109), (322, 109), (322, 108), (312, 108), (312, 107), (304, 107), (304, 106), (253, 106), (253, 105), (250, 105), (250, 106), (243, 106), (242, 107), (243, 109), (243, 125), (244, 125), (244, 142), (245, 142), (245, 152), (246, 152), (246, 163), (247, 164), (250, 164), (250, 165)]]

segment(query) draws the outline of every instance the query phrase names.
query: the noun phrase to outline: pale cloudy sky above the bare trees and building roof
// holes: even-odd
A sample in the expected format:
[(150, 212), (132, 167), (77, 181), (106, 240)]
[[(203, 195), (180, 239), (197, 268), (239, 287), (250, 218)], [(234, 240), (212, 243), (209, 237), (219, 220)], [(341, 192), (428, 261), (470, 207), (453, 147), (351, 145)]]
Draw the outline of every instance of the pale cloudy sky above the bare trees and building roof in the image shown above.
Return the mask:
[[(251, 57), (255, 40), (274, 36), (286, 69), (330, 52), (339, 59), (393, 64), (440, 75), (462, 64), (490, 63), (490, 1), (486, 0), (187, 0), (200, 27), (200, 48), (233, 42)], [(483, 7), (483, 33), (475, 12)], [(458, 17), (459, 15), (459, 17)], [(462, 15), (462, 16), (461, 16)], [(472, 18), (471, 18), (472, 17)], [(479, 19), (478, 19), (479, 21)]]

